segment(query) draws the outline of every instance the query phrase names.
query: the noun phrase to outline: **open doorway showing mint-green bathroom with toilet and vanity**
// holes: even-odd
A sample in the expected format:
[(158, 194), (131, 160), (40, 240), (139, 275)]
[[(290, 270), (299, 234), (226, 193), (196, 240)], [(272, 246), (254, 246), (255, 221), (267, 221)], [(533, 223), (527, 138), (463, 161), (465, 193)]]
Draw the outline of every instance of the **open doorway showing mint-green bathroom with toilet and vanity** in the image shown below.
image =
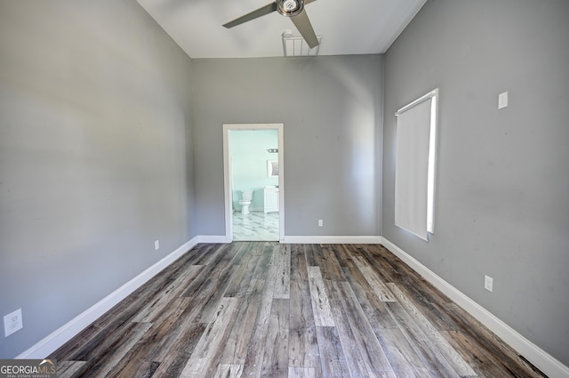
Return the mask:
[(223, 125), (226, 241), (283, 241), (283, 124)]

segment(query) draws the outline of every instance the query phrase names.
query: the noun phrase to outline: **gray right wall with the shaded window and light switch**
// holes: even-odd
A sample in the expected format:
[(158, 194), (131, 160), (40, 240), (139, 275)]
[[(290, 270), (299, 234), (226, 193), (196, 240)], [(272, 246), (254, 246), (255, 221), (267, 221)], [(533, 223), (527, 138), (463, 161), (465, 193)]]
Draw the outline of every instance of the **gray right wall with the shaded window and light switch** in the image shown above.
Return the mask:
[[(567, 20), (566, 0), (422, 8), (385, 57), (383, 235), (569, 366)], [(426, 243), (393, 225), (393, 114), (435, 87), (436, 225)], [(498, 110), (504, 91), (509, 108)]]

